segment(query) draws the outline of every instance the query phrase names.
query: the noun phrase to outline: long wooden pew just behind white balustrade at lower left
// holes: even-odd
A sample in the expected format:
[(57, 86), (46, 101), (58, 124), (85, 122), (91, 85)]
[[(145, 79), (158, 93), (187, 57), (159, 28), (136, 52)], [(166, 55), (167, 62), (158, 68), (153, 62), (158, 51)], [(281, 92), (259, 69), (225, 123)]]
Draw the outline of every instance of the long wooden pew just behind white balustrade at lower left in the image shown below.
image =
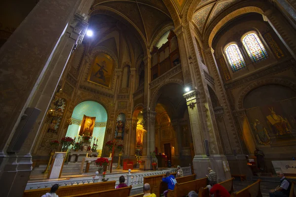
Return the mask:
[[(71, 196), (76, 194), (83, 194), (87, 192), (98, 192), (104, 190), (111, 190), (115, 188), (116, 181), (106, 181), (99, 183), (89, 183), (83, 185), (71, 185), (62, 186), (57, 190), (59, 197)], [(23, 197), (41, 197), (45, 193), (48, 193), (50, 188), (37, 189), (37, 190), (25, 190)]]

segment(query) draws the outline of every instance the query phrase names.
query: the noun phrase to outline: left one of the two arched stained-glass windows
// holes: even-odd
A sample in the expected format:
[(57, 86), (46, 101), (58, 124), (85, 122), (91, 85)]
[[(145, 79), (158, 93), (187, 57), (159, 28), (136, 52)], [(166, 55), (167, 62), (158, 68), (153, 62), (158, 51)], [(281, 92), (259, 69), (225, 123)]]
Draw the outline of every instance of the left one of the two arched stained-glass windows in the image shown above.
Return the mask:
[(232, 43), (226, 46), (225, 53), (233, 72), (236, 72), (246, 66), (245, 60), (237, 44)]

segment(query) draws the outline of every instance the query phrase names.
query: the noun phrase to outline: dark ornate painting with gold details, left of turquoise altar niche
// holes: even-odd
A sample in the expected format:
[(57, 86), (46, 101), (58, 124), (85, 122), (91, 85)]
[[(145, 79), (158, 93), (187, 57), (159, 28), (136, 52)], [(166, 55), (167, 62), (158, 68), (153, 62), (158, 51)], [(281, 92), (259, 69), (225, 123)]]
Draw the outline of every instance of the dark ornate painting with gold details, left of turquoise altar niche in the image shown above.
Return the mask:
[(57, 133), (66, 108), (66, 100), (62, 98), (54, 99), (47, 112), (46, 122), (49, 123), (47, 132)]

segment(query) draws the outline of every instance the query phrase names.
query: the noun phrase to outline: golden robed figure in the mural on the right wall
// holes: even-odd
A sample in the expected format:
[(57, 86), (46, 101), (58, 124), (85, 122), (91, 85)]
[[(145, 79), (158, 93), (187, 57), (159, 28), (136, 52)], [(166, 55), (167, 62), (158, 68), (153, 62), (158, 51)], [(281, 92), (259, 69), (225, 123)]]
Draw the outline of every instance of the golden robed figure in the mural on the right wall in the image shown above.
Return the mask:
[(271, 115), (266, 116), (268, 122), (272, 125), (272, 129), (274, 134), (276, 135), (283, 135), (286, 133), (291, 133), (291, 127), (288, 123), (287, 119), (284, 119), (282, 116), (277, 115), (273, 108), (269, 108), (271, 111)]

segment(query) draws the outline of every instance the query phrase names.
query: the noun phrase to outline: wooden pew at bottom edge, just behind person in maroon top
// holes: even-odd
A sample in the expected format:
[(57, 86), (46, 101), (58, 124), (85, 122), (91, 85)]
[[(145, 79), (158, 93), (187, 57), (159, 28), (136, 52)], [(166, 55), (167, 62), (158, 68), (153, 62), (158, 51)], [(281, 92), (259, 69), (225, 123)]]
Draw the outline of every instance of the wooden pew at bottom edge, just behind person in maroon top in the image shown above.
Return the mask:
[(89, 192), (84, 194), (72, 195), (68, 197), (128, 197), (131, 193), (132, 186), (119, 188), (119, 189), (112, 189), (112, 190), (105, 190), (100, 192)]

